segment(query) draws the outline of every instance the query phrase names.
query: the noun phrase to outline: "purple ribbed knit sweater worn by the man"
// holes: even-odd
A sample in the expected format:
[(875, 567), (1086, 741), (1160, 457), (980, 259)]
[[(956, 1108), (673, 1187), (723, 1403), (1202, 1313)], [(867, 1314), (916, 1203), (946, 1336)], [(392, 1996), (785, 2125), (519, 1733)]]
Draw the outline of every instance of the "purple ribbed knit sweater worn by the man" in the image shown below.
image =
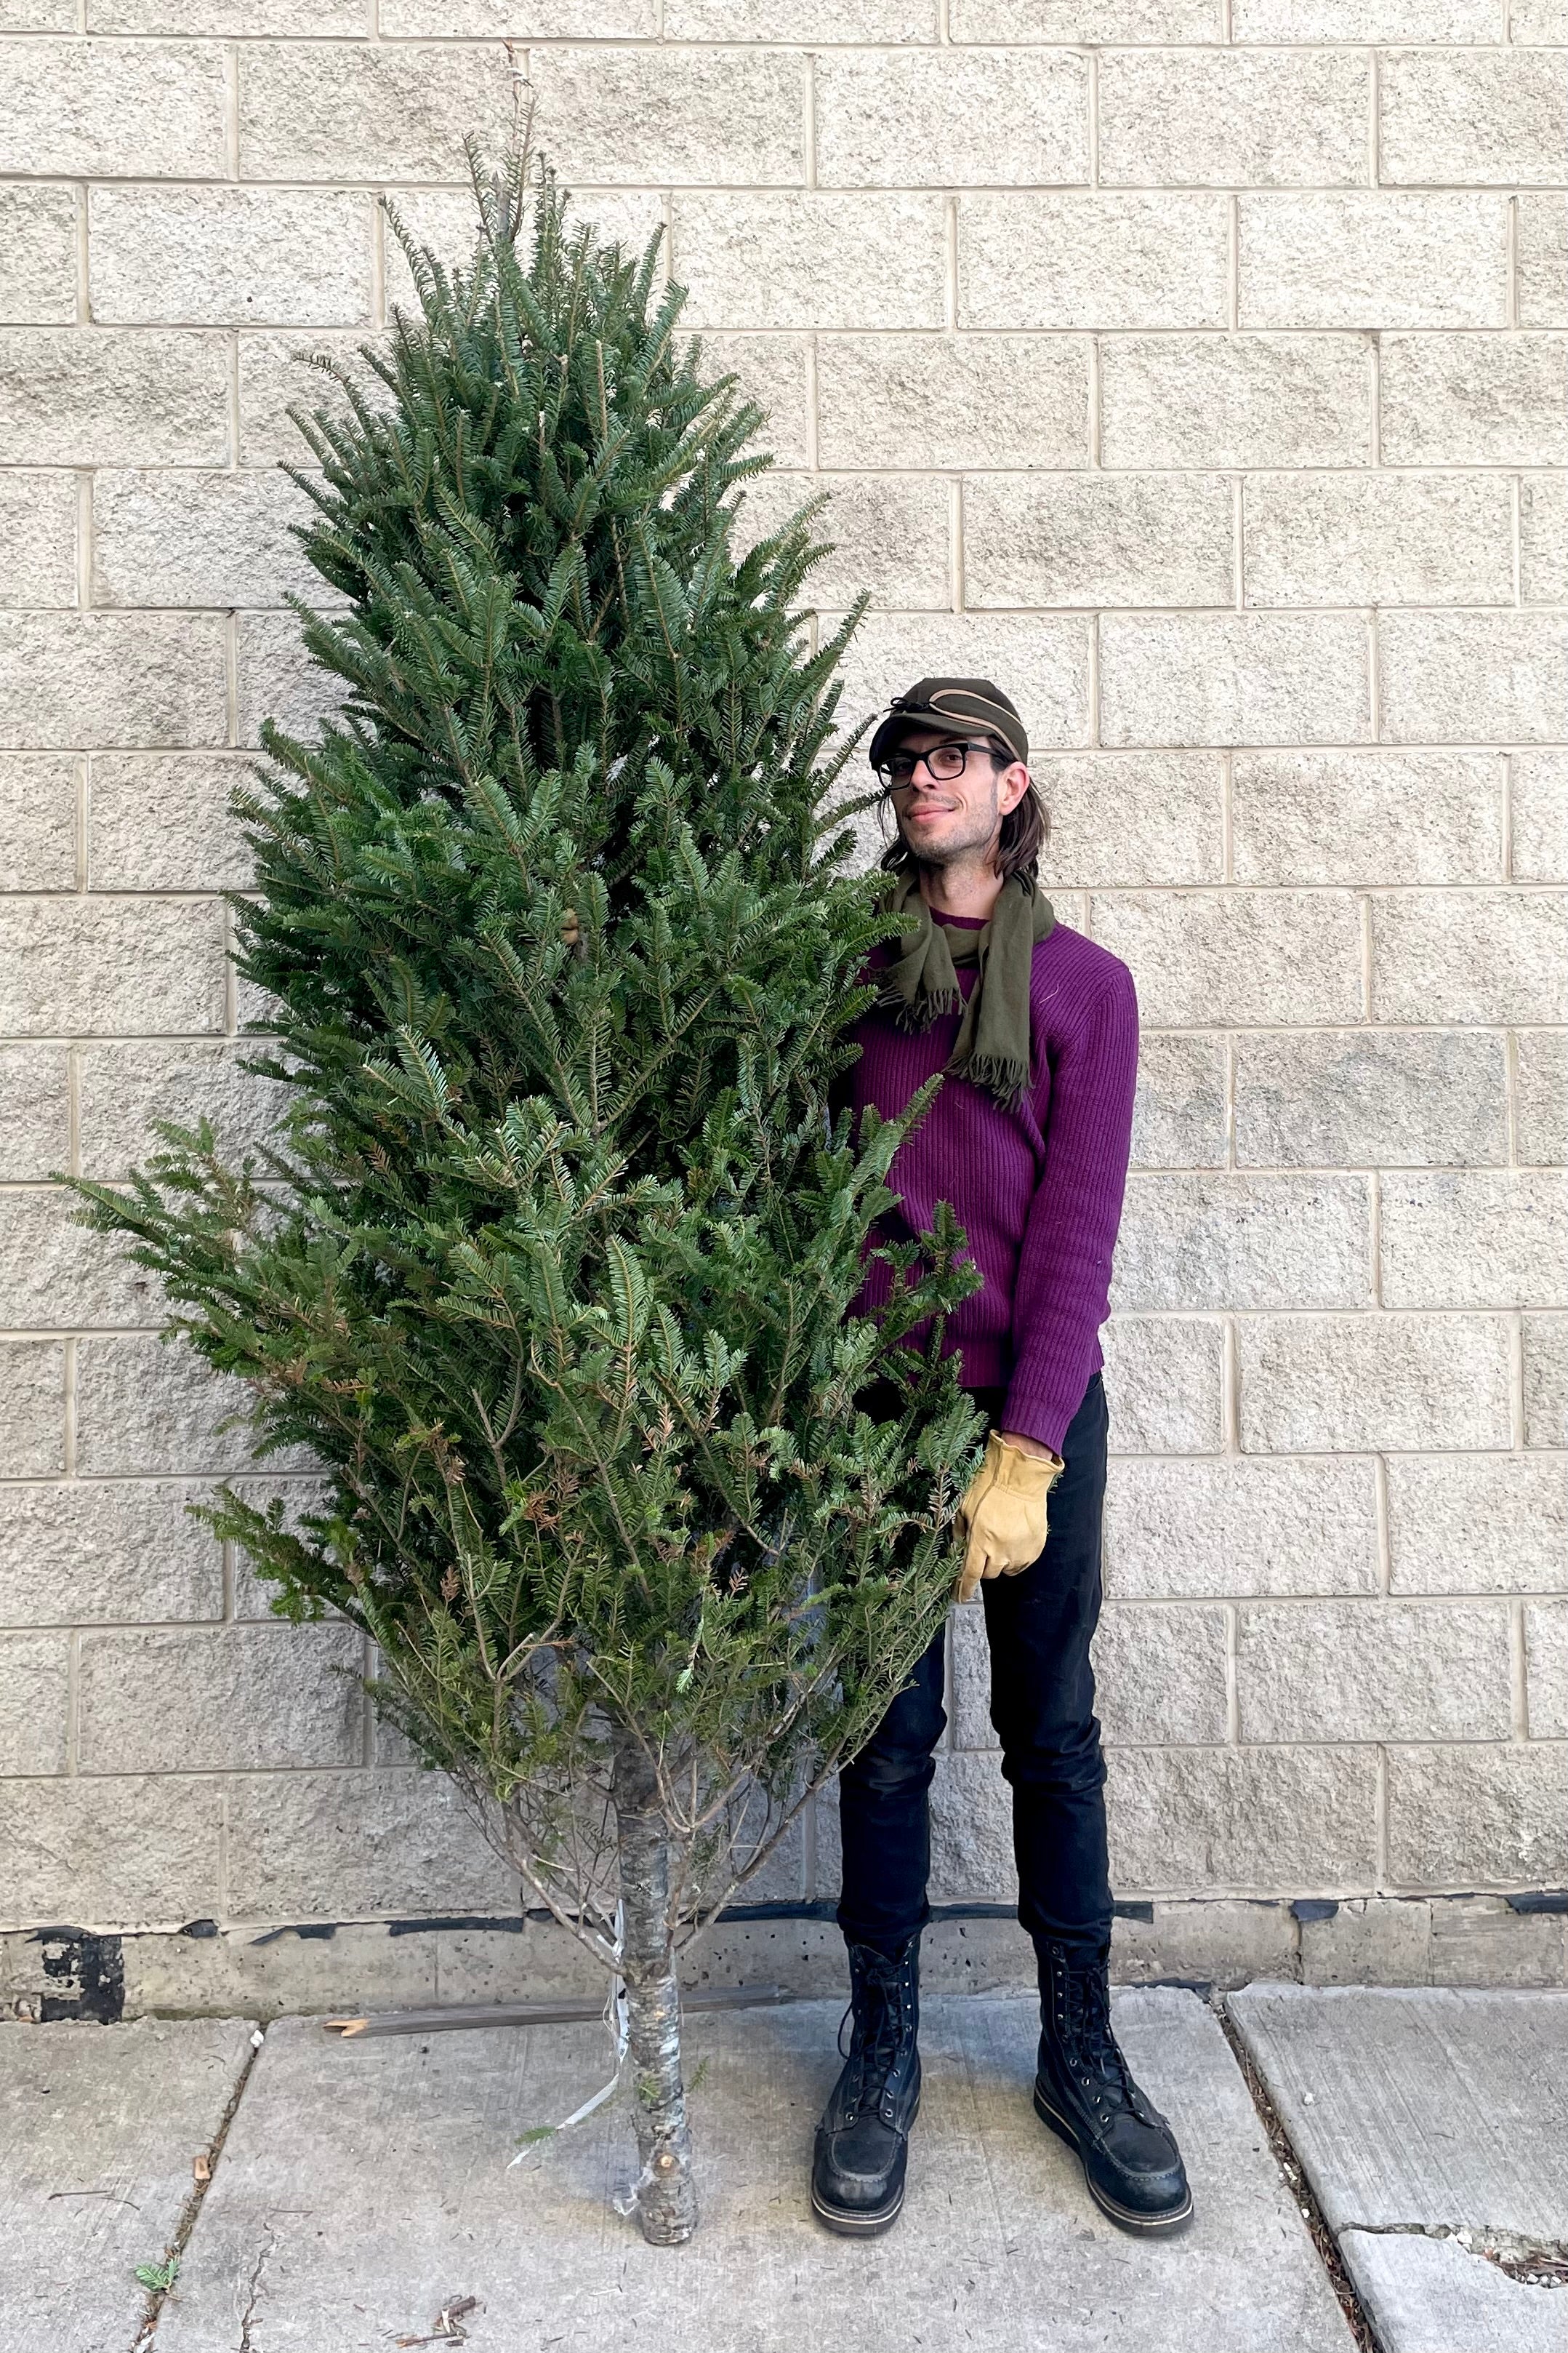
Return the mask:
[[(952, 929), (980, 922), (940, 918)], [(886, 965), (875, 948), (872, 967)], [(969, 998), (976, 967), (957, 967)], [(1056, 1454), (1105, 1362), (1100, 1325), (1133, 1132), (1138, 998), (1133, 974), (1065, 925), (1039, 941), (1030, 972), (1032, 1080), (1018, 1111), (964, 1078), (947, 1078), (924, 1125), (903, 1144), (889, 1176), (903, 1217), (882, 1221), (886, 1240), (931, 1224), (938, 1200), (969, 1238), (985, 1287), (952, 1315), (947, 1348), (961, 1348), (966, 1388), (1006, 1388), (1001, 1428), (1039, 1438)], [(860, 1061), (846, 1078), (856, 1113), (875, 1104), (896, 1118), (940, 1071), (959, 1014), (905, 1033), (882, 1007), (856, 1028)], [(889, 1273), (872, 1268), (858, 1306), (886, 1297)]]

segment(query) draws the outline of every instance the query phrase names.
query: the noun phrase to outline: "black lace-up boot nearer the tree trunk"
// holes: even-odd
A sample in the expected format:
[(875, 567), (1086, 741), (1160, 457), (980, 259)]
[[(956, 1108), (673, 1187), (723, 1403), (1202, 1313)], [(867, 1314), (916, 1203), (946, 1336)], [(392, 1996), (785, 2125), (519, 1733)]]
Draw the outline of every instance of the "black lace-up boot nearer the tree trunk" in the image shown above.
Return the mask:
[[(811, 2207), (846, 2238), (875, 2238), (898, 2217), (910, 2125), (919, 2113), (919, 1937), (889, 1958), (849, 1948), (849, 2059), (816, 2127)], [(839, 2049), (844, 2047), (839, 2026)]]

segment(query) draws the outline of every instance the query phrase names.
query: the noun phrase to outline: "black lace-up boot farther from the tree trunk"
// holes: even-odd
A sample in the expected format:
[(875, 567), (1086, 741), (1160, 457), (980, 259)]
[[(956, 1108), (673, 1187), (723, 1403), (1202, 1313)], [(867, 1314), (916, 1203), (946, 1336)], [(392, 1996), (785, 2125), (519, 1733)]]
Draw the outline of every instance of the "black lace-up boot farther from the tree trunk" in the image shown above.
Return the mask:
[(1110, 1955), (1041, 1939), (1034, 2111), (1084, 2160), (1093, 2202), (1124, 2231), (1175, 2231), (1192, 2214), (1175, 2134), (1133, 2082), (1110, 2026)]

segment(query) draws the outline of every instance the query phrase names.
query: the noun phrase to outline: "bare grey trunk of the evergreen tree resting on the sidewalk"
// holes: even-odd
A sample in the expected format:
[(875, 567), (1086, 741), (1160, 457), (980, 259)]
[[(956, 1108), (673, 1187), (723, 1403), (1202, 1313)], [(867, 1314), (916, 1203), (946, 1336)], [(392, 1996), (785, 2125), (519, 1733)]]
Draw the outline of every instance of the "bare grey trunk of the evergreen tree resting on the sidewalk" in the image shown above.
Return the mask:
[(679, 2068), (679, 1988), (670, 1958), (670, 1833), (649, 1760), (628, 1732), (616, 1741), (614, 1786), (621, 1974), (642, 2160), (637, 2221), (654, 2247), (679, 2247), (696, 2231), (696, 2184)]

